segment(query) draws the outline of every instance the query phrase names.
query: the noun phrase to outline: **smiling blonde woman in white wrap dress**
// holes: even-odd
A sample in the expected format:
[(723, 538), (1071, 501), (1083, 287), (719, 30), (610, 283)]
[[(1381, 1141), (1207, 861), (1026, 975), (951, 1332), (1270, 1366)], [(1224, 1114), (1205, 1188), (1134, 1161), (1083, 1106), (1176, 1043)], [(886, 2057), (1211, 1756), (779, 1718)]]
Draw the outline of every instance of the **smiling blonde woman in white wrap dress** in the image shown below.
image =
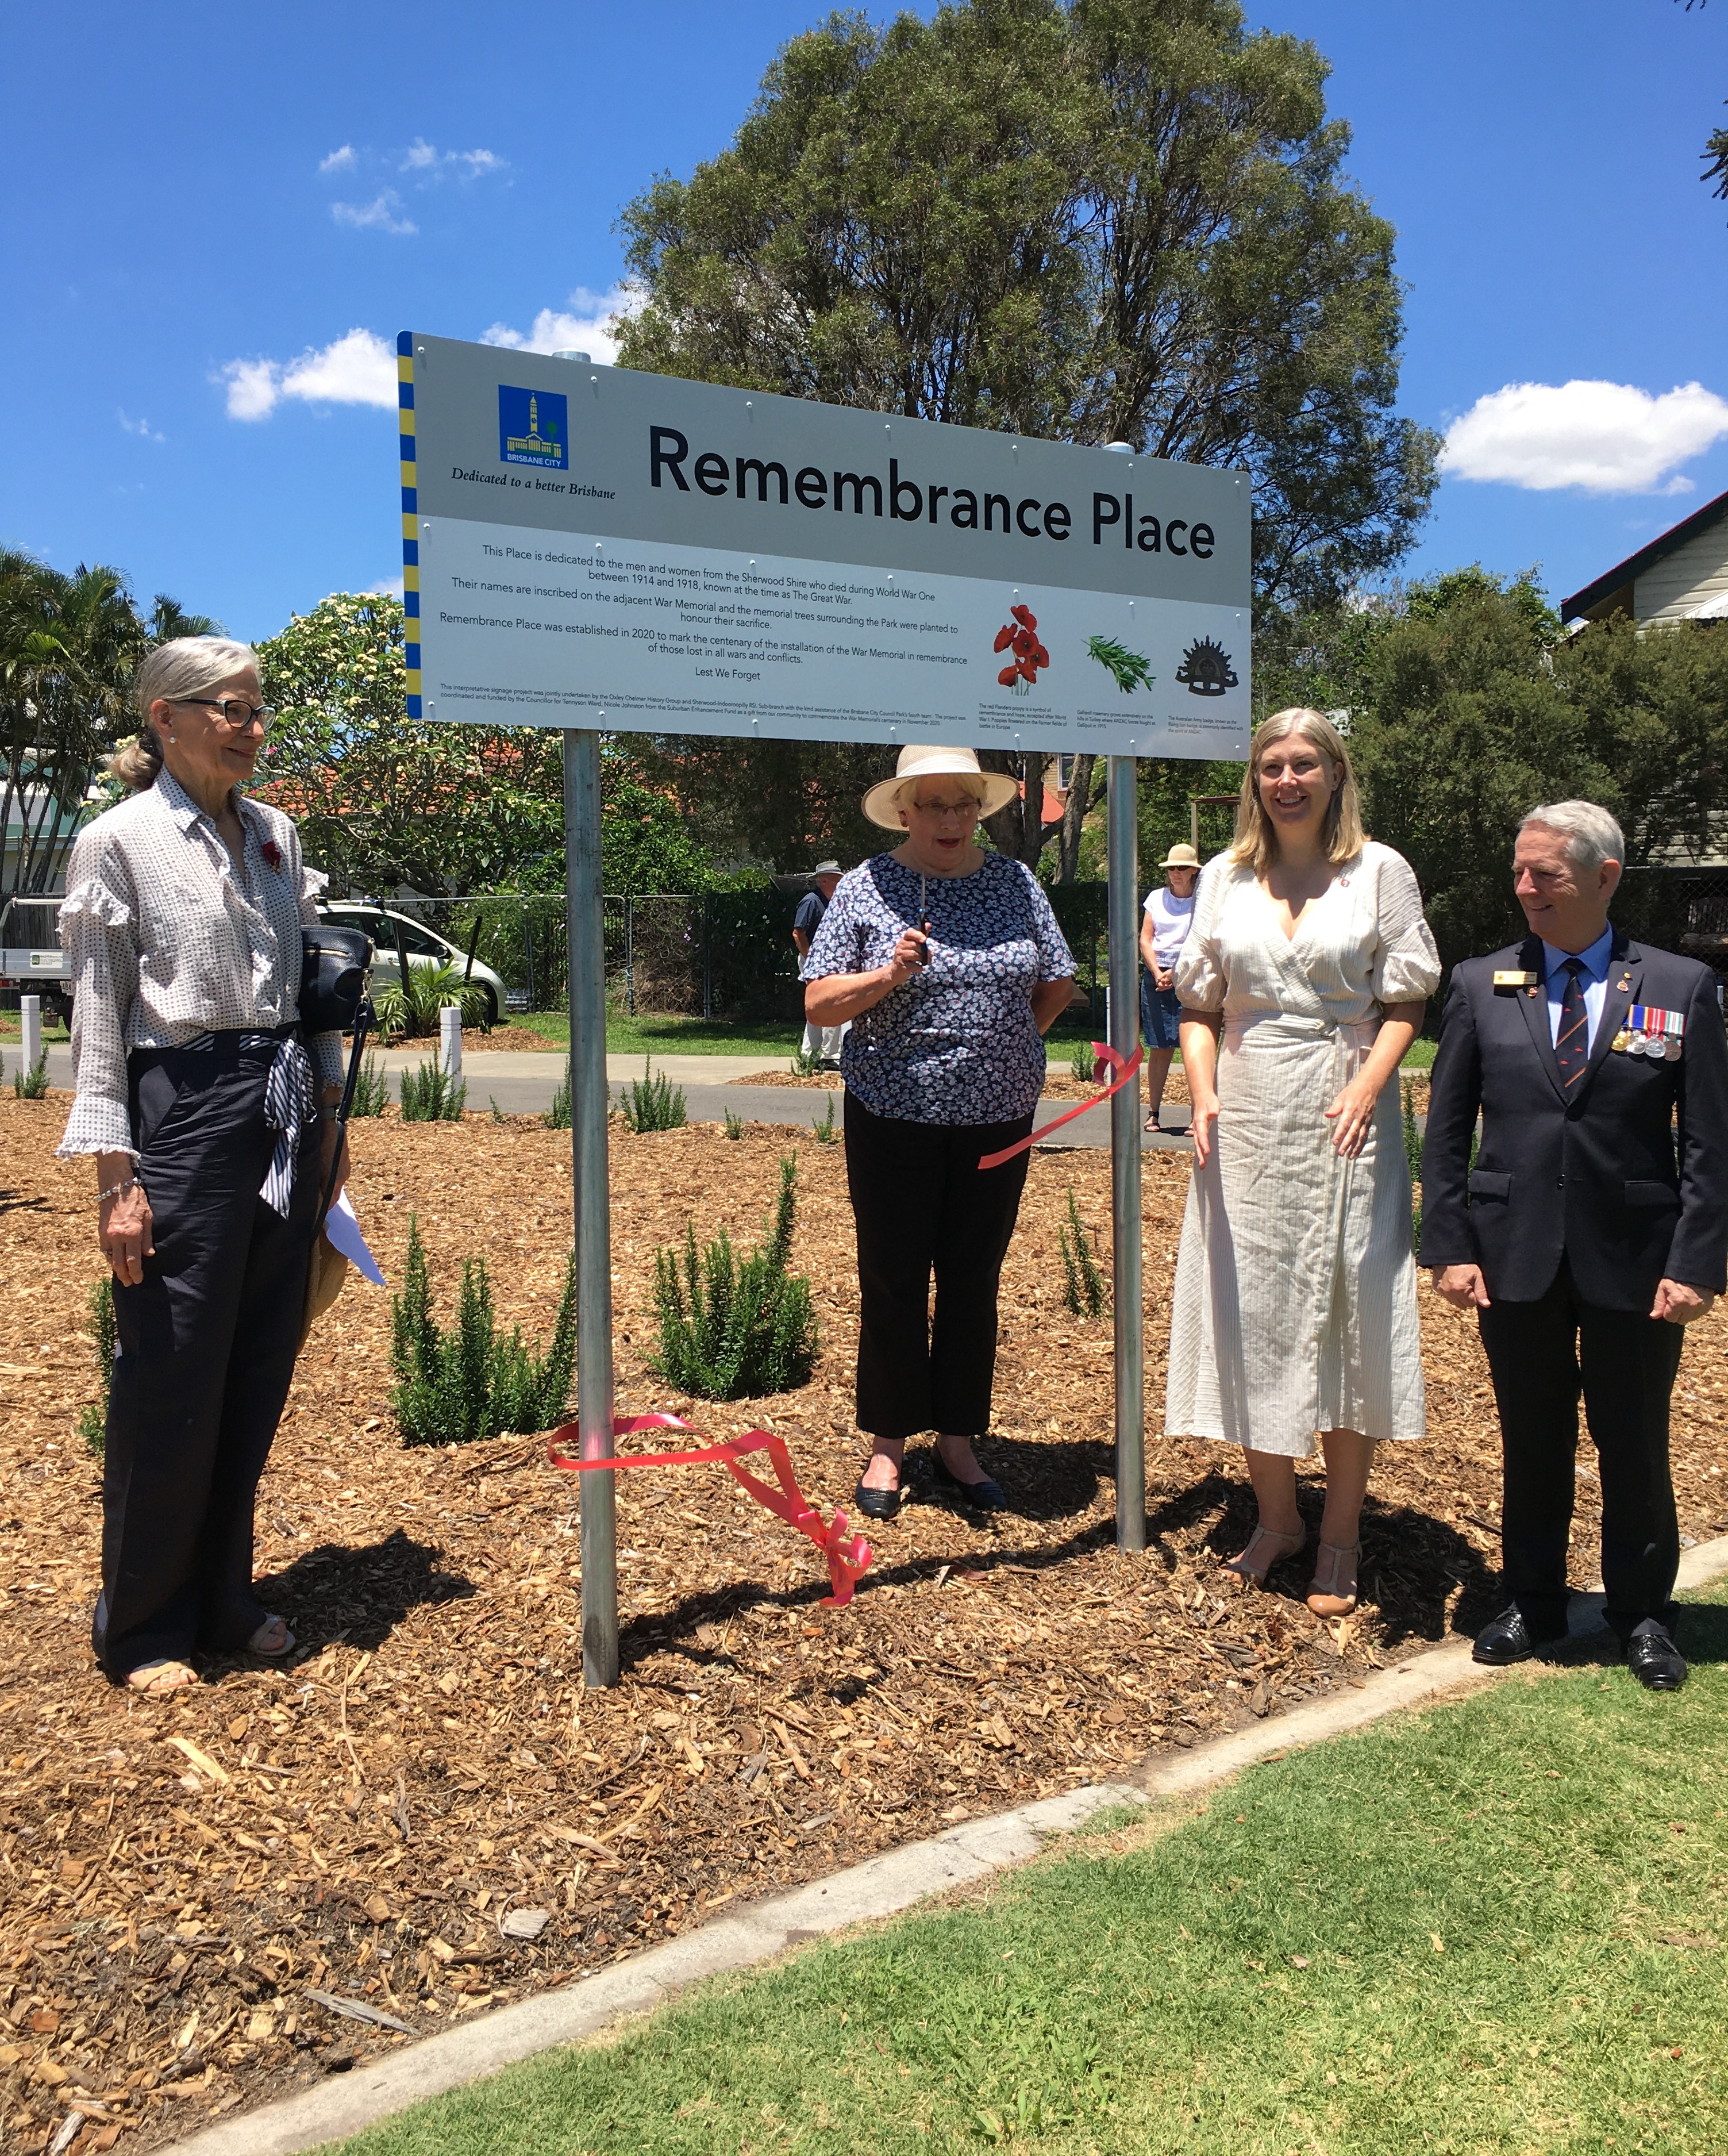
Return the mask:
[(1375, 1445), (1424, 1434), (1394, 1080), (1437, 985), (1416, 875), (1364, 839), (1338, 731), (1265, 720), (1176, 962), (1194, 1179), (1163, 1427), (1243, 1447), (1260, 1518), (1228, 1570), (1256, 1587), (1306, 1546), (1295, 1464), (1319, 1436), (1321, 1617), (1355, 1608)]

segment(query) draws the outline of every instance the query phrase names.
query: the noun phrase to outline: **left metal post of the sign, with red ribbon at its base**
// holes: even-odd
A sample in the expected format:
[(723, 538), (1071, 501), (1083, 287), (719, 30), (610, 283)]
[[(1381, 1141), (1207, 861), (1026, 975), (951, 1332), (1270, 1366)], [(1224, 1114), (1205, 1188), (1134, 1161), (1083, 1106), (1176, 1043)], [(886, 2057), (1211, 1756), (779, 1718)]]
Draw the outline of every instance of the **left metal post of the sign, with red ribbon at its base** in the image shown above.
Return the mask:
[[(575, 1184), (575, 1425), (580, 1455), (612, 1453), (612, 1210), (605, 1162), (605, 921), (599, 735), (565, 733), (565, 923), (571, 975), (571, 1175)], [(618, 1682), (618, 1492), (582, 1475), (582, 1682)]]

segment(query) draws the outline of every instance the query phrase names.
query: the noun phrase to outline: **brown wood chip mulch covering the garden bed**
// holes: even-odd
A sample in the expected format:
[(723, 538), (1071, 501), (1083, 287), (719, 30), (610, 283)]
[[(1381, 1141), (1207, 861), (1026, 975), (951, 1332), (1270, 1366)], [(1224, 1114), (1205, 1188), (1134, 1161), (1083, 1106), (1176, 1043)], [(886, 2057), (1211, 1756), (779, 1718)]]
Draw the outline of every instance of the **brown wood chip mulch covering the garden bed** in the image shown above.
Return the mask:
[[(390, 1416), (384, 1291), (349, 1283), (302, 1358), (259, 1498), (259, 1576), (293, 1667), (213, 1664), (175, 1699), (90, 1662), (99, 1468), (84, 1298), (88, 1162), (52, 1158), (67, 1095), (0, 1100), (0, 2145), (170, 2141), (487, 2005), (565, 1984), (974, 1813), (1360, 1680), (1495, 1608), (1497, 1432), (1474, 1328), (1424, 1291), (1433, 1436), (1385, 1447), (1362, 1613), (1319, 1626), (1288, 1565), (1232, 1593), (1250, 1498), (1232, 1451), (1148, 1440), (1153, 1548), (1114, 1548), (1112, 1330), (1060, 1302), (1073, 1188), (1107, 1266), (1105, 1153), (1034, 1158), (1008, 1257), (998, 1429), (1017, 1511), (920, 1501), (881, 1529), (851, 1611), (814, 1550), (720, 1468), (618, 1479), (623, 1682), (582, 1690), (571, 1479), (539, 1438), (409, 1451)], [(799, 1393), (689, 1404), (646, 1371), (653, 1250), (752, 1244), (797, 1145), (795, 1263), (821, 1363)], [(362, 1125), (353, 1197), (390, 1276), (409, 1214), (440, 1302), (485, 1255), (500, 1317), (549, 1328), (569, 1136), (536, 1117)], [(855, 1281), (838, 1147), (808, 1132), (614, 1130), (618, 1406), (761, 1421), (825, 1507), (849, 1505)], [(1187, 1160), (1146, 1160), (1148, 1416), (1157, 1429)], [(1681, 1520), (1724, 1522), (1724, 1322), (1676, 1391)], [(629, 1440), (636, 1445), (638, 1440)], [(657, 1449), (644, 1445), (642, 1449)], [(914, 1455), (916, 1457), (916, 1455)], [(1588, 1447), (1584, 1460), (1588, 1460)], [(1573, 1576), (1597, 1563), (1579, 1464)], [(1319, 1490), (1306, 1483), (1310, 1520)], [(323, 2001), (343, 2001), (338, 2016)], [(364, 2020), (353, 2014), (368, 2016)]]

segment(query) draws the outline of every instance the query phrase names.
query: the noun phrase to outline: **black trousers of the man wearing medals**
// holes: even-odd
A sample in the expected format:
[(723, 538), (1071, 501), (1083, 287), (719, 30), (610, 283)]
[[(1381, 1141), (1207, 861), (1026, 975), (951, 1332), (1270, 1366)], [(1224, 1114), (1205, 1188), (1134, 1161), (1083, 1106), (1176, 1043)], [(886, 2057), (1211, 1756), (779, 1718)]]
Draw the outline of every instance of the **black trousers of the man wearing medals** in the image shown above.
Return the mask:
[(1538, 1639), (1566, 1630), (1579, 1393), (1603, 1492), (1607, 1621), (1620, 1639), (1644, 1617), (1668, 1621), (1681, 1565), (1668, 1473), (1681, 1326), (1584, 1302), (1564, 1259), (1541, 1302), (1493, 1302), (1480, 1324), (1506, 1451), (1506, 1587), (1525, 1623)]

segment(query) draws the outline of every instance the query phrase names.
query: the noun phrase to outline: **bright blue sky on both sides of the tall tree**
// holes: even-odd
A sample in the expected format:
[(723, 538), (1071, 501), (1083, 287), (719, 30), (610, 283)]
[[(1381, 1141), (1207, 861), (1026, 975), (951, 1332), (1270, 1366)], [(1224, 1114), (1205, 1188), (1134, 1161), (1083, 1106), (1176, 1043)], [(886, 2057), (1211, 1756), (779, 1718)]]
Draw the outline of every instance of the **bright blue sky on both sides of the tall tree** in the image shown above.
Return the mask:
[[(114, 563), (243, 636), (390, 580), (396, 438), (364, 401), (368, 338), (539, 321), (584, 343), (623, 267), (618, 205), (722, 149), (819, 13), (13, 11), (0, 539)], [(1461, 470), (1497, 474), (1448, 476), (1411, 573), (1541, 563), (1564, 595), (1728, 487), (1728, 205), (1696, 177), (1728, 116), (1728, 0), (1260, 0), (1250, 19), (1334, 63), (1351, 175), (1409, 282), (1403, 410), (1467, 418)], [(1573, 483), (1532, 485), (1556, 472)]]

